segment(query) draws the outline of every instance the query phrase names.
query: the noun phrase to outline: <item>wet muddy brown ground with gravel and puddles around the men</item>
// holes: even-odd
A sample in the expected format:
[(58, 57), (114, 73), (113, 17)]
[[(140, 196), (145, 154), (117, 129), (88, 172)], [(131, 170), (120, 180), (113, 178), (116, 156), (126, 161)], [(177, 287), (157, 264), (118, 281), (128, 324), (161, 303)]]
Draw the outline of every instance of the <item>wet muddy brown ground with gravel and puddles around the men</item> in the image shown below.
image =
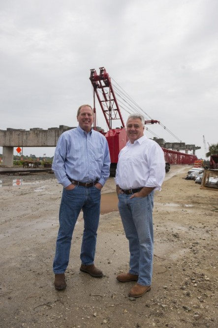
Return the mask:
[(79, 271), (80, 214), (67, 288), (58, 292), (52, 262), (62, 186), (49, 173), (0, 175), (0, 327), (218, 327), (218, 191), (183, 179), (188, 169), (172, 167), (155, 193), (152, 290), (137, 299), (127, 296), (134, 282), (116, 280), (129, 254), (112, 178), (102, 190), (95, 255), (104, 277)]

